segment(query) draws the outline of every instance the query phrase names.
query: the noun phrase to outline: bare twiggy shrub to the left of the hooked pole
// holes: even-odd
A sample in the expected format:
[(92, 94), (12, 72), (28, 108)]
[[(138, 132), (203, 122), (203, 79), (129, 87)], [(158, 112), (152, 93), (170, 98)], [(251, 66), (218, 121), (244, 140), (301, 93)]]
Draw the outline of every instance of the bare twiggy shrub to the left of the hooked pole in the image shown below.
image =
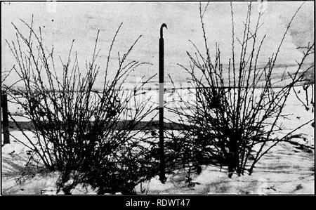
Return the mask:
[[(12, 103), (22, 106), (24, 117), (33, 124), (31, 132), (35, 136), (29, 138), (27, 130), (10, 114), (28, 140), (23, 144), (47, 169), (60, 171), (58, 187), (66, 194), (80, 183), (98, 188), (99, 193), (133, 193), (135, 185), (155, 173), (155, 167), (150, 164), (152, 144), (142, 131), (146, 124), (140, 124), (154, 114), (155, 107), (148, 103), (150, 97), (138, 97), (140, 88), (154, 76), (143, 77), (135, 91), (123, 89), (131, 71), (149, 65), (129, 59), (141, 36), (123, 56), (118, 53), (113, 79), (109, 78), (109, 63), (121, 25), (114, 34), (103, 67), (96, 63), (100, 52), (98, 32), (93, 55), (86, 62), (86, 73), (79, 70), (72, 41), (67, 60), (60, 58), (62, 71), (58, 72), (62, 72), (62, 77), (59, 78), (54, 48), (46, 48), (41, 27), (35, 31), (33, 18), (30, 25), (21, 21), (29, 33), (22, 34), (13, 25), (16, 39), (7, 43), (16, 61), (13, 70), (22, 80), (22, 87), (10, 88), (8, 93)], [(97, 77), (104, 77), (100, 91), (93, 88)]]

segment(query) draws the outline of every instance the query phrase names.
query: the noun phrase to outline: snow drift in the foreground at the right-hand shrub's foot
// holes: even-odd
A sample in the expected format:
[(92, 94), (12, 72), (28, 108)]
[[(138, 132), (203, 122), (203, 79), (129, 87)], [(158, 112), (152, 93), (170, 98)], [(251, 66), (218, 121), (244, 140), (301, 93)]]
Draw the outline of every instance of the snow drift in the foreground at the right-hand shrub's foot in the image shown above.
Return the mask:
[(280, 143), (254, 169), (254, 173), (228, 178), (225, 170), (203, 166), (202, 173), (192, 176), (192, 185), (186, 182), (184, 171), (169, 174), (165, 184), (158, 178), (136, 188), (138, 193), (156, 194), (314, 194), (314, 152), (306, 153)]

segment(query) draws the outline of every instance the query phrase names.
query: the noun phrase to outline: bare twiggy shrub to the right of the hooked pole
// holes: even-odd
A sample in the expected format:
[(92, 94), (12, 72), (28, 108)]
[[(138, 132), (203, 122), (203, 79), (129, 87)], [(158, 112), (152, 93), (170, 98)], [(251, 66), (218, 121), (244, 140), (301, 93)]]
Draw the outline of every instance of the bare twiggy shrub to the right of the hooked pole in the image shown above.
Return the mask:
[[(314, 65), (305, 67), (304, 61), (314, 54), (314, 44), (308, 44), (303, 58), (297, 62), (294, 72), (287, 72), (287, 84), (278, 85), (273, 78), (277, 57), (281, 51), (284, 38), (298, 8), (287, 25), (277, 51), (270, 56), (263, 67), (258, 66), (261, 48), (264, 46), (265, 35), (258, 37), (263, 11), (258, 19), (251, 22), (251, 3), (248, 5), (244, 20), (243, 37), (235, 37), (235, 21), (233, 6), (232, 16), (232, 54), (228, 66), (223, 64), (220, 47), (216, 44), (215, 55), (212, 57), (206, 30), (204, 14), (207, 10), (199, 6), (200, 22), (204, 39), (204, 53), (195, 44), (194, 53), (187, 52), (190, 67), (183, 67), (190, 74), (190, 82), (195, 90), (190, 91), (194, 100), (185, 100), (180, 94), (181, 107), (169, 107), (171, 112), (178, 114), (182, 130), (169, 133), (172, 140), (178, 140), (178, 159), (183, 166), (199, 166), (212, 164), (227, 166), (228, 176), (234, 172), (240, 176), (248, 171), (251, 174), (256, 163), (269, 152), (272, 147), (282, 141), (291, 139), (291, 134), (300, 129), (306, 122), (279, 138), (273, 136), (282, 131), (279, 122), (287, 116), (282, 112), (289, 94), (294, 86), (303, 84), (304, 75)], [(236, 43), (237, 42), (237, 43)], [(236, 45), (240, 45), (239, 54)], [(199, 75), (202, 75), (199, 77)], [(274, 80), (275, 79), (275, 80)], [(175, 159), (176, 157), (174, 157)]]

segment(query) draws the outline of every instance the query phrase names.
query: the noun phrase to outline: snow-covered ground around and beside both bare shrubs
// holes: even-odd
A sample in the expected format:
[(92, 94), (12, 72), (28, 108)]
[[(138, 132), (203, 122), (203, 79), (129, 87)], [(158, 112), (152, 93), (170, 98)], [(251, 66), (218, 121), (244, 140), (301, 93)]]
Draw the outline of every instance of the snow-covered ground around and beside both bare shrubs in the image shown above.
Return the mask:
[[(305, 100), (305, 91), (296, 87), (301, 100)], [(311, 92), (309, 92), (311, 93)], [(152, 92), (152, 94), (154, 94)], [(309, 94), (310, 96), (310, 94)], [(171, 97), (172, 98), (172, 97)], [(166, 100), (169, 100), (166, 98)], [(282, 120), (282, 133), (295, 129), (298, 125), (314, 119), (312, 106), (305, 107), (291, 93), (284, 114), (290, 114)], [(9, 106), (9, 111), (17, 109)], [(175, 117), (166, 113), (166, 117)], [(288, 129), (288, 130), (286, 130)], [(138, 194), (314, 194), (315, 189), (315, 128), (307, 124), (295, 133), (300, 138), (292, 139), (292, 143), (279, 143), (265, 157), (258, 162), (254, 173), (244, 176), (228, 178), (225, 169), (214, 166), (202, 166), (202, 173), (192, 176), (192, 184), (186, 182), (186, 173), (182, 170), (167, 174), (165, 184), (159, 182), (158, 177), (136, 186)], [(1, 134), (2, 135), (2, 134)], [(26, 143), (26, 138), (20, 131), (11, 131), (11, 135)], [(32, 138), (28, 131), (27, 136)], [(1, 136), (3, 137), (3, 136)], [(3, 139), (3, 138), (1, 138)], [(297, 145), (299, 143), (300, 145)], [(2, 192), (4, 194), (53, 194), (57, 193), (56, 181), (59, 173), (50, 173), (41, 165), (35, 164), (25, 169), (29, 158), (29, 149), (11, 137), (11, 143), (1, 147), (2, 164)], [(24, 176), (22, 176), (22, 174)], [(62, 193), (61, 191), (58, 192)], [(72, 194), (96, 194), (89, 186), (77, 186)]]

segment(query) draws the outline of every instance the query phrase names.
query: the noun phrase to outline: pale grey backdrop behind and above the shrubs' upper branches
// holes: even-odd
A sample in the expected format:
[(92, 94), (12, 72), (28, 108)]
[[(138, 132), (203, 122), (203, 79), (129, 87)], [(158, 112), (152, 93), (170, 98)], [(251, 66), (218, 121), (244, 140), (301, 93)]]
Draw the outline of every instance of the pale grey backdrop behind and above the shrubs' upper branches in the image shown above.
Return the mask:
[[(287, 23), (301, 4), (302, 2), (297, 1), (264, 2), (263, 26), (258, 37), (263, 37), (264, 34), (267, 37), (259, 63), (266, 63), (272, 53), (275, 53)], [(232, 5), (235, 34), (241, 39), (247, 3), (235, 2)], [(252, 22), (258, 17), (258, 8), (258, 2), (253, 2)], [(32, 15), (34, 27), (42, 28), (44, 44), (48, 48), (53, 46), (55, 55), (63, 60), (67, 59), (72, 39), (75, 39), (74, 50), (78, 53), (81, 69), (84, 69), (85, 61), (91, 59), (98, 29), (98, 64), (105, 66), (112, 37), (123, 22), (114, 43), (110, 60), (111, 70), (114, 71), (117, 65), (117, 52), (123, 54), (140, 35), (142, 37), (133, 49), (130, 59), (152, 63), (133, 73), (131, 82), (143, 75), (149, 76), (158, 72), (159, 28), (162, 23), (166, 23), (168, 27), (164, 30), (165, 75), (171, 74), (176, 81), (183, 81), (187, 77), (178, 63), (189, 65), (187, 51), (194, 52), (190, 41), (204, 51), (198, 2), (1, 2), (1, 71), (9, 70), (15, 64), (6, 44), (6, 40), (15, 39), (15, 30), (11, 23), (13, 22), (22, 33), (27, 33), (20, 19), (30, 22)], [(232, 39), (230, 3), (211, 2), (204, 20), (211, 55), (214, 54), (214, 46), (218, 43), (221, 60), (227, 64), (231, 57)], [(305, 2), (284, 40), (282, 53), (277, 60), (278, 65), (291, 66), (295, 64), (295, 60), (302, 58), (303, 53), (297, 47), (313, 42), (314, 22), (314, 2)], [(61, 68), (58, 74), (62, 74)], [(13, 81), (16, 77), (15, 74), (11, 75)], [(98, 81), (98, 84), (101, 82)]]

